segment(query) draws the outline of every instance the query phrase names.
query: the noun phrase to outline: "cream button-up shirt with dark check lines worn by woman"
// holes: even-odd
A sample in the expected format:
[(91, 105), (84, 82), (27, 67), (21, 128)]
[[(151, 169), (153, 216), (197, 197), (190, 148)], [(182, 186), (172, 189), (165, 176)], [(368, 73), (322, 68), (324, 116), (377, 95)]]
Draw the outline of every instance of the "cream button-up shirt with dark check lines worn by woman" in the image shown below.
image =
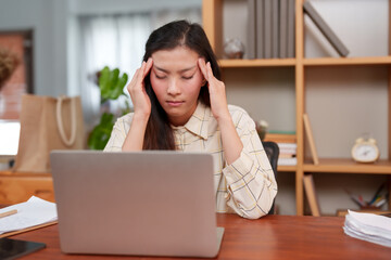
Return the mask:
[[(173, 126), (176, 148), (213, 155), (217, 212), (237, 212), (244, 218), (256, 219), (266, 214), (272, 207), (277, 183), (254, 121), (238, 106), (228, 105), (228, 109), (243, 143), (236, 161), (226, 164), (217, 121), (211, 108), (202, 103), (199, 103), (185, 126)], [(131, 118), (131, 113), (118, 118), (104, 151), (122, 151)]]

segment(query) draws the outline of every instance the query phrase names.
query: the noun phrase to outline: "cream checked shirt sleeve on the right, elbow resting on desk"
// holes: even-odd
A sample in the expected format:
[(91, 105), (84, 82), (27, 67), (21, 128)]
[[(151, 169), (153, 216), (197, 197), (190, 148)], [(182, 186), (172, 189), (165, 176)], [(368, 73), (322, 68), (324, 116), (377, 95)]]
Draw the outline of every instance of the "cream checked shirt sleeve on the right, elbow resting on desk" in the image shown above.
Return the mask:
[(227, 205), (244, 218), (256, 219), (270, 209), (277, 183), (254, 121), (244, 113), (231, 113), (242, 150), (239, 157), (223, 169), (230, 194)]

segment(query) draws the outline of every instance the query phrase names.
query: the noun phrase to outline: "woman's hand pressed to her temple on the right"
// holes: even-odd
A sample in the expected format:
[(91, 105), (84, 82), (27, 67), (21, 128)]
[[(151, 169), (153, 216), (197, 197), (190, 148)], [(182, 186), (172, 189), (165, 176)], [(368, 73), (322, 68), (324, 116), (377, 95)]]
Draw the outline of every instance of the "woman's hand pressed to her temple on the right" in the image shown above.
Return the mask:
[(204, 78), (207, 81), (213, 116), (217, 121), (224, 118), (230, 118), (224, 82), (214, 77), (210, 62), (205, 64), (205, 61), (200, 57), (198, 63)]

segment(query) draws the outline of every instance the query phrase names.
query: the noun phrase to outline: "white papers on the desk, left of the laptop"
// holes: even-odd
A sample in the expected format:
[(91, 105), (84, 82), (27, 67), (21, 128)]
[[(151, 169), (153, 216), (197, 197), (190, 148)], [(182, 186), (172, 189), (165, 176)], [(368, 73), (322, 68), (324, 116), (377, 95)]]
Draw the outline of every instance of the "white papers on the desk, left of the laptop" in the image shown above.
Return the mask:
[(58, 220), (55, 204), (35, 196), (31, 196), (26, 203), (0, 209), (0, 214), (15, 209), (16, 213), (0, 218), (0, 235)]

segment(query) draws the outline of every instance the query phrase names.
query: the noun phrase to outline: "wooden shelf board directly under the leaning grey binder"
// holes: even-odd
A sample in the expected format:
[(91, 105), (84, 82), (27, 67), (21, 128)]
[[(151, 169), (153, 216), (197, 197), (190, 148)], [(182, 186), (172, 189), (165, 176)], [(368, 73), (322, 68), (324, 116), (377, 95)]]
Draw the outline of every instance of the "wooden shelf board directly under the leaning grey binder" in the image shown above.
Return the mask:
[(305, 66), (388, 65), (391, 64), (391, 56), (304, 58), (303, 64)]

